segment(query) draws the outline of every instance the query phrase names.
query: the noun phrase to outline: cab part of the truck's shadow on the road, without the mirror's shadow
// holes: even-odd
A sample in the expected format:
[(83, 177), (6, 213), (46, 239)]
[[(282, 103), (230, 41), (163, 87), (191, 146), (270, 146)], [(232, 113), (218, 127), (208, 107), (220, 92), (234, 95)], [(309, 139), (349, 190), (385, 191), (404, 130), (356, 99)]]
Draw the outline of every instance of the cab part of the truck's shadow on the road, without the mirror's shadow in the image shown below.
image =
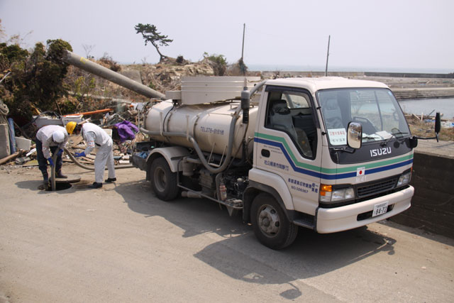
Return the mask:
[(375, 253), (394, 255), (394, 243), (365, 227), (331, 234), (300, 228), (297, 240), (284, 250), (265, 248), (248, 235), (213, 243), (195, 256), (238, 280), (282, 284), (323, 275)]

